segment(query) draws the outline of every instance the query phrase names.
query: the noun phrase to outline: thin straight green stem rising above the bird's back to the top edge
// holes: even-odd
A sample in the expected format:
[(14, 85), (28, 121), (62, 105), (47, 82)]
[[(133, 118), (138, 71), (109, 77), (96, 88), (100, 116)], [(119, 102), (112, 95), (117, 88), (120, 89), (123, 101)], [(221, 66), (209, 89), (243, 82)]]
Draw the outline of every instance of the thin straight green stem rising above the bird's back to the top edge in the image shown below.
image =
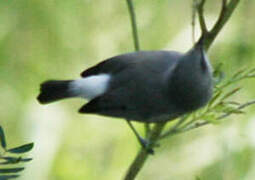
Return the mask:
[(127, 5), (128, 5), (129, 14), (130, 14), (130, 20), (131, 20), (135, 50), (140, 51), (137, 25), (136, 25), (136, 17), (135, 17), (135, 10), (134, 10), (134, 5), (133, 5), (132, 0), (127, 0)]

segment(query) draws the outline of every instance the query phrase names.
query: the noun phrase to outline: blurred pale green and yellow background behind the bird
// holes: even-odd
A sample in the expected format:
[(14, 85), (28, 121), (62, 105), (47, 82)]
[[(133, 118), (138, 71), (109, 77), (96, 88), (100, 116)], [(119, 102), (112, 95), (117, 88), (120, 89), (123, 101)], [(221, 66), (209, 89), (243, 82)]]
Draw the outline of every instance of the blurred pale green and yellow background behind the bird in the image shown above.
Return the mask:
[[(207, 0), (213, 24), (220, 0)], [(192, 45), (191, 0), (136, 0), (143, 50), (185, 52)], [(209, 55), (224, 63), (226, 77), (255, 67), (255, 1), (241, 0)], [(198, 35), (198, 33), (196, 33)], [(0, 124), (9, 147), (35, 142), (20, 179), (118, 180), (139, 147), (120, 119), (80, 115), (84, 100), (47, 106), (36, 101), (47, 79), (78, 78), (84, 69), (133, 51), (126, 2), (103, 0), (2, 0), (0, 2)], [(245, 80), (234, 98), (255, 98), (255, 80)], [(255, 179), (255, 108), (166, 139), (138, 176), (141, 180)], [(140, 133), (143, 126), (135, 124)]]

